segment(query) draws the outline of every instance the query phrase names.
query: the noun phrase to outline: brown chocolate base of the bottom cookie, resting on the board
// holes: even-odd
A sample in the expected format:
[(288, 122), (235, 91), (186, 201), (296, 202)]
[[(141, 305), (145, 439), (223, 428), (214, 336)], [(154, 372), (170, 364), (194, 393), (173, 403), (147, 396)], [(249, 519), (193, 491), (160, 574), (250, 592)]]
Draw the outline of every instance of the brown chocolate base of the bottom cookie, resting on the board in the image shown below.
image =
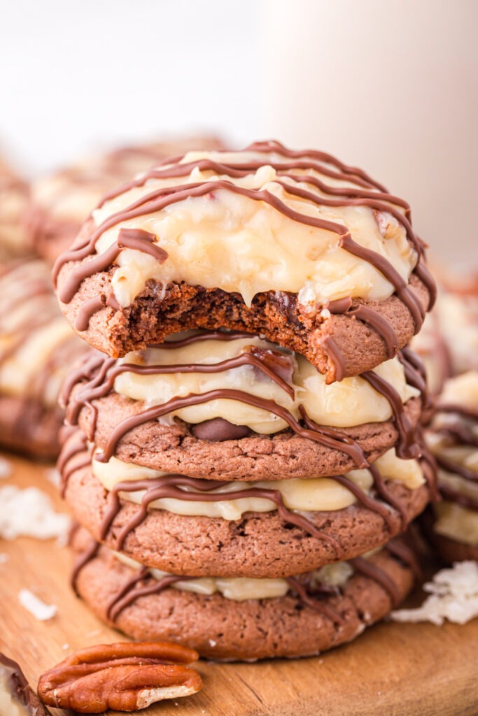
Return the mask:
[(85, 531), (75, 534), (74, 548), (77, 592), (98, 616), (135, 639), (168, 639), (211, 659), (310, 656), (350, 642), (397, 606), (414, 582), (414, 556), (403, 543), (357, 558), (339, 584), (325, 584), (322, 573), (318, 582), (307, 575), (284, 582), (285, 589), (274, 581), (272, 589), (283, 596), (243, 601), (224, 591), (175, 589), (176, 577), (156, 579), (126, 566)]

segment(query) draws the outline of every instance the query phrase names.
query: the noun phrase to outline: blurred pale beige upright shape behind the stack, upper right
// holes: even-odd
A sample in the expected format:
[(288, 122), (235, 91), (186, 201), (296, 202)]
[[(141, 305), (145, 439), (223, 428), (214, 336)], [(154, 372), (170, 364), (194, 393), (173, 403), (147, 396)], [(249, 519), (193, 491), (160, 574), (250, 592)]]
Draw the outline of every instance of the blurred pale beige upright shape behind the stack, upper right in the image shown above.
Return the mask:
[(265, 0), (266, 125), (406, 198), (432, 251), (478, 266), (478, 2)]

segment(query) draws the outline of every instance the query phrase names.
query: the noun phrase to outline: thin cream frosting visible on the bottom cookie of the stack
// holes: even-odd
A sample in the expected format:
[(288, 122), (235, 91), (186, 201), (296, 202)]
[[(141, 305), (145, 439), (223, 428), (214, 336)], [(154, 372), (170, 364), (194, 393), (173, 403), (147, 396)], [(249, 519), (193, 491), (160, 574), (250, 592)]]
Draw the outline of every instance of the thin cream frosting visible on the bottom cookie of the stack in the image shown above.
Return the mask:
[[(124, 554), (115, 552), (116, 558), (132, 569), (140, 569), (139, 562), (126, 557)], [(168, 575), (161, 569), (150, 569), (150, 575), (154, 579), (162, 579)], [(343, 586), (353, 574), (353, 569), (348, 562), (329, 564), (312, 574), (312, 580), (317, 583), (330, 586)], [(171, 584), (173, 589), (181, 591), (192, 591), (195, 594), (221, 594), (226, 599), (233, 601), (245, 601), (246, 599), (273, 599), (274, 597), (285, 596), (290, 590), (286, 579), (253, 579), (251, 577), (202, 577), (199, 579), (188, 579), (177, 581)]]

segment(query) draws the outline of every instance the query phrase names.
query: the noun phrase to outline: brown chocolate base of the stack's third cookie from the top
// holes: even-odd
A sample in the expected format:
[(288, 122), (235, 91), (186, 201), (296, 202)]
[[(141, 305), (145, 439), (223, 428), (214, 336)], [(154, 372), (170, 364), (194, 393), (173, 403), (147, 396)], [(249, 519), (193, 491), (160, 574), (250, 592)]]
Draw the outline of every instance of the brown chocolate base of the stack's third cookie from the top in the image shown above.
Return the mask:
[[(141, 505), (119, 497), (128, 495), (127, 491), (148, 490), (145, 500), (162, 496), (184, 500), (191, 498), (191, 491), (185, 495), (178, 485), (186, 483), (188, 490), (207, 489), (207, 480), (175, 481), (172, 476), (128, 480), (108, 492), (92, 475), (86, 461), (85, 453), (80, 453), (63, 471), (64, 495), (77, 521), (110, 548), (141, 563), (193, 576), (282, 577), (353, 558), (401, 533), (424, 509), (430, 495), (427, 485), (411, 490), (393, 480), (385, 482), (376, 469), (376, 483), (371, 490), (363, 491), (350, 478), (340, 478), (338, 484), (356, 495), (355, 503), (347, 508), (290, 510), (285, 508), (277, 489), (261, 486), (243, 490), (239, 498), (274, 498), (279, 511), (247, 511), (228, 520), (148, 509), (144, 501), (142, 511)], [(75, 462), (80, 465), (77, 470)], [(434, 478), (428, 477), (433, 490)], [(216, 494), (215, 499), (222, 496), (230, 500), (231, 495), (234, 493)], [(352, 502), (353, 498), (349, 500)]]

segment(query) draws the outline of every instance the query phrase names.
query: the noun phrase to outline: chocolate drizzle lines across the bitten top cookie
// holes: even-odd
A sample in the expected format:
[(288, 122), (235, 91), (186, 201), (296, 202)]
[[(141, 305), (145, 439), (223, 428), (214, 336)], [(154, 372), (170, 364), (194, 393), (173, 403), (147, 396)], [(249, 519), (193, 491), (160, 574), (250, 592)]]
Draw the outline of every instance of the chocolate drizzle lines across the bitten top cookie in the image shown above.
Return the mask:
[[(278, 155), (280, 160), (272, 160), (272, 157), (267, 157), (267, 165), (271, 165), (274, 170), (277, 171), (276, 184), (279, 184), (285, 193), (292, 197), (298, 197), (312, 202), (316, 206), (353, 206), (363, 205), (368, 206), (374, 212), (385, 212), (393, 216), (406, 231), (408, 241), (417, 252), (418, 261), (415, 266), (415, 273), (419, 276), (419, 279), (426, 286), (429, 291), (429, 308), (433, 305), (436, 288), (434, 281), (431, 278), (428, 270), (424, 266), (424, 243), (419, 239), (413, 231), (411, 226), (410, 208), (408, 203), (403, 201), (401, 198), (393, 196), (386, 192), (382, 185), (373, 181), (368, 175), (362, 170), (357, 168), (350, 168), (340, 161), (333, 158), (331, 155), (317, 152), (315, 150), (306, 150), (297, 152), (289, 150), (279, 142), (256, 142), (249, 147), (246, 147), (244, 152), (257, 152), (269, 154), (273, 153)], [(100, 207), (107, 202), (107, 200), (118, 197), (121, 193), (125, 193), (130, 189), (143, 187), (150, 179), (168, 179), (168, 178), (181, 178), (187, 177), (192, 170), (210, 170), (217, 175), (226, 176), (231, 179), (242, 178), (258, 170), (263, 162), (260, 160), (251, 160), (246, 158), (239, 163), (221, 163), (219, 161), (209, 159), (199, 159), (194, 162), (179, 163), (181, 158), (174, 158), (167, 160), (166, 162), (158, 165), (143, 174), (140, 178), (135, 179), (127, 184), (122, 185), (120, 188), (111, 191), (103, 198), (100, 203)], [(264, 162), (266, 160), (264, 159)], [(307, 173), (301, 173), (301, 170), (316, 170), (322, 175), (329, 176), (334, 180), (347, 181), (348, 186), (333, 186), (328, 185), (319, 178), (309, 175)], [(298, 172), (298, 173), (297, 173)], [(315, 187), (316, 191), (312, 192), (303, 188), (301, 185), (309, 185)], [(70, 276), (59, 291), (60, 300), (68, 304), (72, 301), (73, 296), (77, 293), (82, 281), (87, 276), (105, 271), (109, 266), (112, 266), (118, 258), (118, 253), (123, 247), (133, 246), (136, 250), (147, 251), (152, 253), (153, 246), (156, 247), (156, 243), (152, 244), (148, 239), (147, 241), (138, 240), (138, 236), (135, 236), (133, 243), (125, 243), (118, 241), (108, 248), (104, 253), (95, 256), (95, 246), (102, 236), (102, 233), (107, 231), (114, 226), (118, 226), (120, 223), (130, 221), (131, 219), (145, 216), (146, 214), (155, 213), (162, 211), (164, 208), (188, 198), (197, 198), (205, 195), (214, 194), (218, 190), (226, 190), (237, 195), (243, 195), (254, 201), (262, 201), (272, 206), (276, 211), (282, 213), (283, 216), (290, 218), (292, 221), (305, 224), (306, 226), (314, 226), (315, 228), (321, 228), (325, 231), (330, 231), (338, 236), (339, 246), (344, 248), (349, 253), (353, 253), (360, 260), (367, 261), (371, 265), (383, 274), (383, 276), (393, 285), (398, 298), (403, 301), (411, 313), (414, 319), (415, 330), (419, 330), (423, 318), (424, 311), (421, 309), (421, 304), (414, 295), (413, 291), (408, 288), (406, 281), (404, 281), (398, 274), (396, 269), (393, 268), (390, 261), (381, 256), (381, 254), (371, 251), (368, 248), (360, 246), (358, 243), (353, 241), (350, 236), (350, 231), (343, 223), (334, 221), (328, 221), (318, 216), (310, 216), (306, 213), (300, 213), (295, 211), (281, 200), (274, 193), (268, 190), (252, 190), (242, 186), (235, 185), (230, 180), (218, 179), (201, 181), (197, 183), (186, 183), (176, 186), (164, 186), (162, 188), (156, 188), (155, 190), (147, 193), (146, 195), (136, 199), (123, 211), (118, 211), (112, 216), (107, 218), (100, 226), (92, 231), (90, 236), (83, 238), (78, 241), (76, 246), (70, 251), (65, 252), (59, 257), (57, 263), (54, 266), (54, 281), (56, 283), (59, 271), (62, 269), (65, 263), (69, 261), (83, 261), (88, 258), (88, 261), (81, 263), (80, 266), (76, 266), (72, 269)], [(317, 190), (319, 193), (317, 193)], [(333, 196), (335, 198), (328, 198)], [(401, 211), (396, 208), (400, 207)], [(120, 233), (125, 231), (120, 230)], [(128, 230), (136, 231), (136, 230)], [(142, 232), (146, 234), (147, 232)], [(149, 235), (152, 236), (152, 235)], [(165, 252), (159, 247), (158, 248), (158, 261), (162, 263), (166, 260)], [(156, 256), (156, 254), (154, 254)], [(97, 310), (102, 308), (102, 304), (95, 304)], [(94, 304), (90, 303), (89, 309), (93, 309)], [(383, 338), (386, 344), (387, 354), (392, 356), (396, 352), (396, 336), (394, 335), (393, 329), (388, 324), (386, 319), (382, 316), (378, 316), (378, 312), (373, 309), (363, 310), (362, 309), (350, 312), (344, 312), (345, 315), (359, 319), (368, 323), (378, 334)], [(367, 307), (368, 308), (368, 307)], [(82, 314), (82, 321), (80, 324), (85, 326), (85, 316)], [(91, 314), (92, 315), (92, 314)], [(378, 316), (378, 317), (377, 317)], [(333, 346), (332, 346), (333, 349)], [(338, 359), (337, 355), (333, 357), (333, 360)], [(338, 361), (340, 366), (340, 361)]]

